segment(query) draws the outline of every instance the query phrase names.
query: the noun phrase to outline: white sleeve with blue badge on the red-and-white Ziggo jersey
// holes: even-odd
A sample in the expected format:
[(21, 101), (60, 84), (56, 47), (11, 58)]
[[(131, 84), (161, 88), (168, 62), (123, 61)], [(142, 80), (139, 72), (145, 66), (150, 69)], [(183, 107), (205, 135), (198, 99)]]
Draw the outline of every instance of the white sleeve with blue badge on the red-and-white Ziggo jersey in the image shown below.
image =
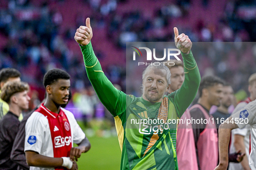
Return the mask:
[(26, 122), (25, 131), (25, 148), (24, 151), (35, 151), (40, 153), (42, 148), (42, 140), (46, 132), (45, 121), (48, 120), (40, 113), (34, 112)]

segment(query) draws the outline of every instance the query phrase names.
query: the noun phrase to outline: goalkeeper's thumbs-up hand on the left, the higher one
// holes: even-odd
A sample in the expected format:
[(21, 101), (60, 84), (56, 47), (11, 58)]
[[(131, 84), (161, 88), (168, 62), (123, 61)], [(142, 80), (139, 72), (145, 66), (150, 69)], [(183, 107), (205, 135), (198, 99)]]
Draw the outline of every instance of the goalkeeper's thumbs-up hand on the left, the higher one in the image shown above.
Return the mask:
[(87, 45), (92, 38), (90, 18), (86, 19), (86, 26), (80, 26), (75, 33), (75, 41), (81, 45)]

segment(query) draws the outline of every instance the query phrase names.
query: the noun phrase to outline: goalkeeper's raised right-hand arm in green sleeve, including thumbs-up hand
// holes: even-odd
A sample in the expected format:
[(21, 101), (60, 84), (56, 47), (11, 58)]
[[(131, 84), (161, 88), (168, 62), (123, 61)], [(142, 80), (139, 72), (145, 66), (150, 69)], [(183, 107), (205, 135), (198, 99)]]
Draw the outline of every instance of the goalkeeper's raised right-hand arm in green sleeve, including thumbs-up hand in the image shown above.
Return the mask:
[(185, 80), (177, 91), (171, 93), (171, 97), (174, 98), (175, 106), (178, 111), (178, 117), (181, 117), (191, 102), (194, 100), (201, 76), (197, 63), (194, 60), (191, 52), (192, 42), (187, 35), (178, 35), (178, 29), (174, 28), (175, 44), (176, 47), (181, 50), (181, 55), (184, 63)]

